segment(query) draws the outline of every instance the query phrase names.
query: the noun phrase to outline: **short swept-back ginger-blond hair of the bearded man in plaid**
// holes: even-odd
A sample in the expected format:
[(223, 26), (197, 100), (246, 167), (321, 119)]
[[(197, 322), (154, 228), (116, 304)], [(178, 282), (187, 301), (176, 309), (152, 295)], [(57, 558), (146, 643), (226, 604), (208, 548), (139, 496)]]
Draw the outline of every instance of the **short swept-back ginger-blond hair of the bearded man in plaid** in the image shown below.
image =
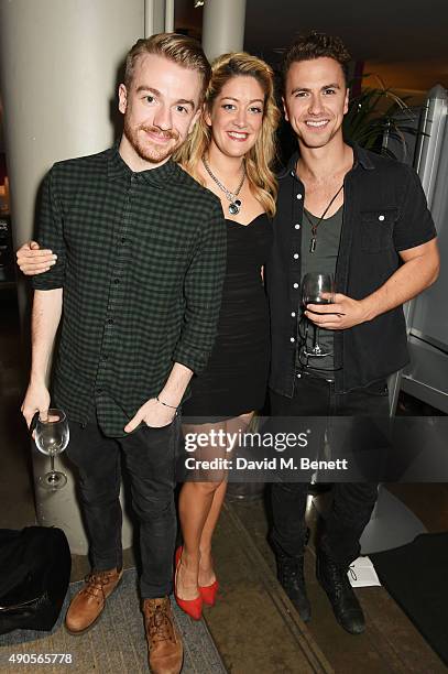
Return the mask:
[(138, 40), (129, 51), (125, 59), (124, 84), (127, 87), (132, 81), (135, 62), (142, 54), (164, 56), (184, 68), (197, 70), (203, 79), (200, 99), (204, 99), (211, 75), (211, 67), (203, 52), (203, 47), (196, 40), (178, 33), (159, 33), (151, 35), (151, 37)]

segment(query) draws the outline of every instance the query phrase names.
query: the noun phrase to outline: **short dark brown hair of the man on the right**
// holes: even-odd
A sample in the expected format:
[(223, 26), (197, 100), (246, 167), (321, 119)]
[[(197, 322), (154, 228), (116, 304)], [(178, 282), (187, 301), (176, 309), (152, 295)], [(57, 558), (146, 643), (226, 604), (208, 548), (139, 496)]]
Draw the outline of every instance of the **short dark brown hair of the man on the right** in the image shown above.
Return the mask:
[(326, 33), (313, 31), (307, 35), (299, 35), (298, 40), (285, 53), (282, 62), (283, 86), (293, 63), (321, 57), (334, 58), (339, 63), (347, 84), (348, 64), (351, 61), (351, 54), (342, 40), (337, 35), (327, 35)]

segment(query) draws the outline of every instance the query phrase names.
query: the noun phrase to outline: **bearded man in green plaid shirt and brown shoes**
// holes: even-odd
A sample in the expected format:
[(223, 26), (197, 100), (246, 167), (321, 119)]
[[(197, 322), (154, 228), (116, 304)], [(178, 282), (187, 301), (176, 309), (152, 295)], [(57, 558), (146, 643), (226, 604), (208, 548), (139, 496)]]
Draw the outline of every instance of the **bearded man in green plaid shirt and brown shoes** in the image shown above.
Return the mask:
[(70, 423), (92, 573), (66, 617), (80, 633), (122, 575), (120, 449), (140, 520), (150, 667), (178, 672), (168, 595), (181, 405), (206, 365), (226, 265), (219, 199), (171, 159), (192, 130), (210, 74), (183, 35), (139, 40), (127, 59), (121, 141), (47, 174), (39, 242), (57, 256), (34, 279), (32, 369), (22, 412), (45, 420), (45, 377), (61, 323), (53, 400)]

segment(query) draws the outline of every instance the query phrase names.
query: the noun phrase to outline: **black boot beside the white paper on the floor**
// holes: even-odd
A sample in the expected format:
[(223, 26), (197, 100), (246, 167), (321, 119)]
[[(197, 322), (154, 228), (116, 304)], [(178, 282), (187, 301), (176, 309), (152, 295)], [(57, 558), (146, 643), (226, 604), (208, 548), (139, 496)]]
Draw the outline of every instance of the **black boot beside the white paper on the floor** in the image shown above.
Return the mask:
[(365, 629), (364, 615), (342, 568), (321, 551), (316, 557), (316, 576), (330, 600), (336, 620), (350, 634), (361, 634)]

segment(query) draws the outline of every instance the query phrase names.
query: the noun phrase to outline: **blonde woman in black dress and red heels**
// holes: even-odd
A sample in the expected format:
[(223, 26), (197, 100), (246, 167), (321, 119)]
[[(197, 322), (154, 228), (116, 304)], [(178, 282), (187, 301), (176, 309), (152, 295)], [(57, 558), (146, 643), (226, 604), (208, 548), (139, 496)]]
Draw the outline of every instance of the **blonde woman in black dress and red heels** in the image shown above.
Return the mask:
[[(271, 244), (269, 217), (275, 210), (270, 166), (277, 120), (273, 74), (263, 61), (236, 53), (214, 62), (203, 118), (178, 159), (221, 200), (227, 274), (215, 347), (183, 405), (185, 435), (244, 432), (264, 403), (270, 328), (262, 269)], [(229, 455), (226, 447), (209, 446), (192, 456), (204, 460)], [(176, 553), (175, 578), (176, 600), (194, 618), (200, 617), (203, 602), (215, 602), (211, 536), (227, 487), (223, 471), (197, 479), (186, 481), (179, 496), (184, 545)]]

